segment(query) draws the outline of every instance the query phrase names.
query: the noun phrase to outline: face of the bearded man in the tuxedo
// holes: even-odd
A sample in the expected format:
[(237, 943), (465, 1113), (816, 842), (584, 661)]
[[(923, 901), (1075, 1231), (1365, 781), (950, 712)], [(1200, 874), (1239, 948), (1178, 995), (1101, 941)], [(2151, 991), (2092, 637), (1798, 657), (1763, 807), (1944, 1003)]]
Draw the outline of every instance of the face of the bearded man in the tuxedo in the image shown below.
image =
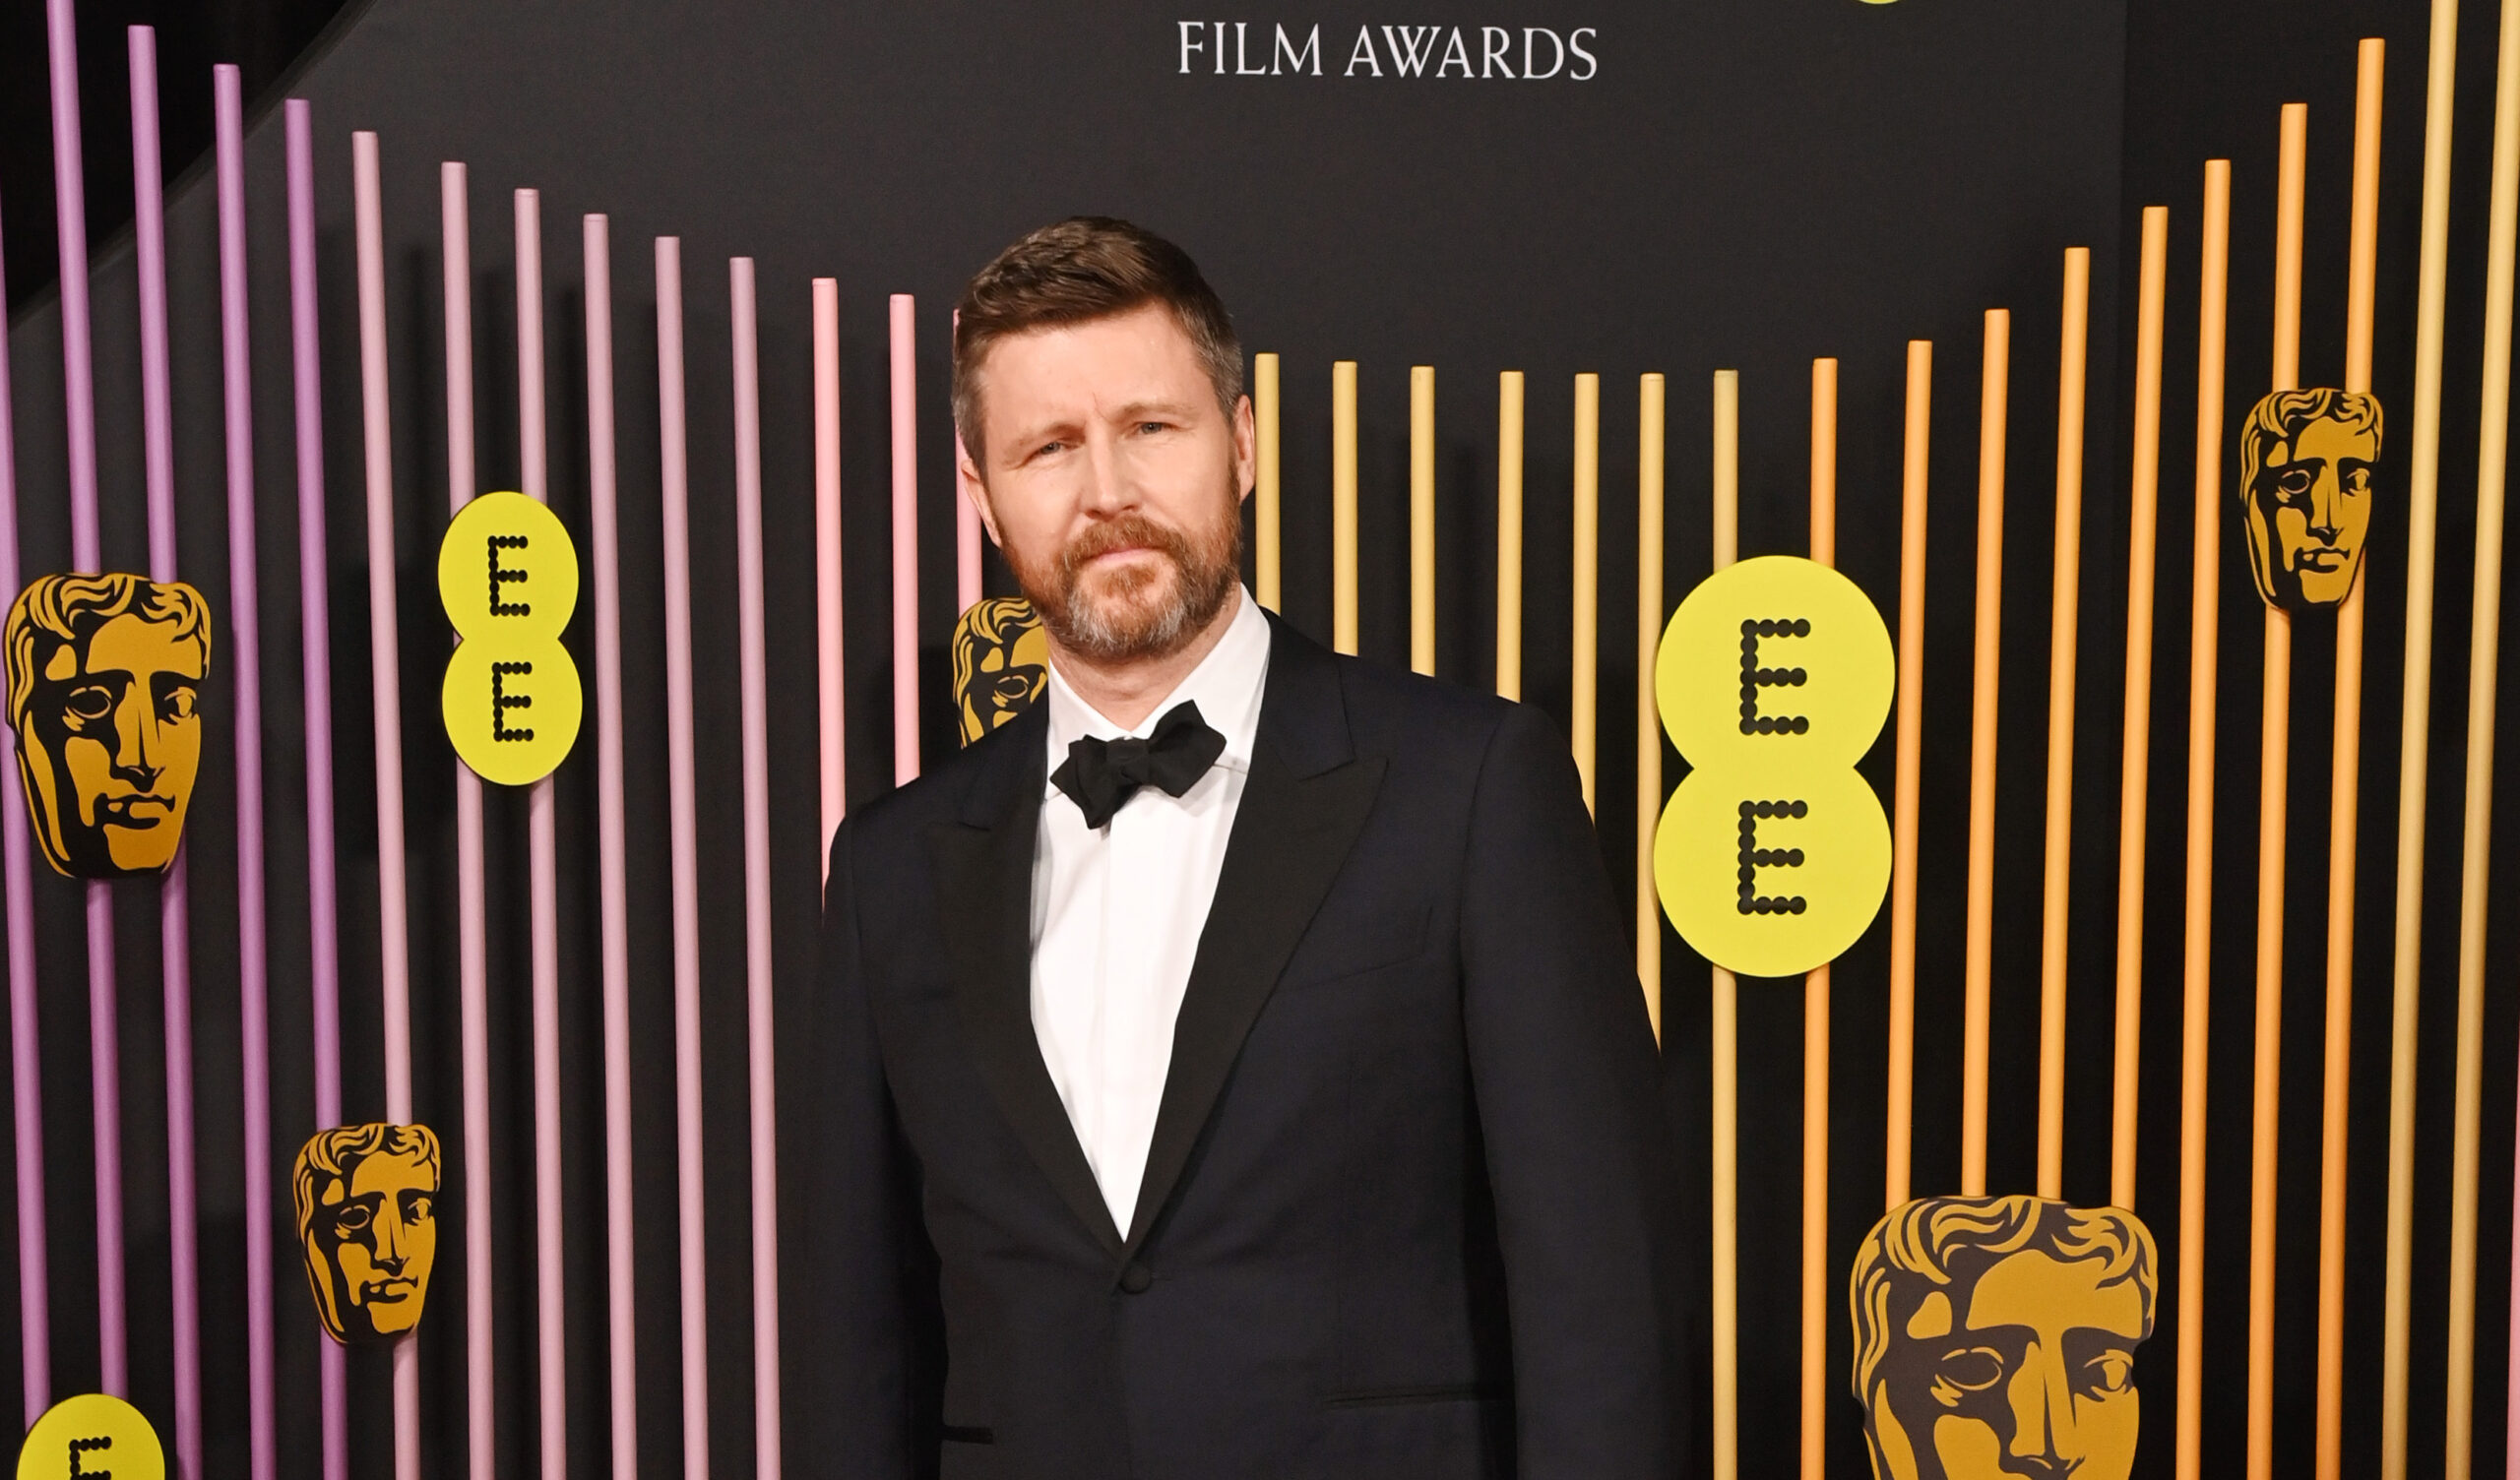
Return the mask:
[(1225, 607), (1250, 400), (1217, 405), (1172, 310), (1000, 340), (980, 365), (980, 425), (963, 493), (1061, 647), (1162, 657)]

